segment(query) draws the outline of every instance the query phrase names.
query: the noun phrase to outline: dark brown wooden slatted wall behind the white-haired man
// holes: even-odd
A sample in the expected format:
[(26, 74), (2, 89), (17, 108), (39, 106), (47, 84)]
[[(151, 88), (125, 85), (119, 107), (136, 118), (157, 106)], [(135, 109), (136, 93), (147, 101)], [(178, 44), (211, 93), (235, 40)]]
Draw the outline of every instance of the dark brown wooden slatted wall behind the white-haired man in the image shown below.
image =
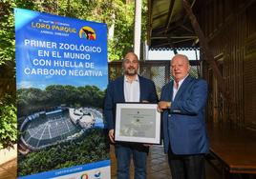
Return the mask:
[[(212, 119), (215, 122), (231, 122), (256, 129), (256, 1), (216, 0), (213, 3), (207, 0), (202, 10), (204, 18), (200, 18), (200, 24), (213, 55), (223, 55), (222, 65), (217, 63), (231, 98), (230, 101), (223, 99), (217, 83), (213, 83), (214, 75), (209, 75), (210, 68), (205, 65), (204, 75), (212, 83), (209, 95), (212, 99), (209, 100), (213, 102), (209, 102), (208, 116), (218, 117)], [(221, 14), (224, 17), (220, 17)], [(221, 110), (218, 115), (214, 115), (213, 106), (216, 105)]]

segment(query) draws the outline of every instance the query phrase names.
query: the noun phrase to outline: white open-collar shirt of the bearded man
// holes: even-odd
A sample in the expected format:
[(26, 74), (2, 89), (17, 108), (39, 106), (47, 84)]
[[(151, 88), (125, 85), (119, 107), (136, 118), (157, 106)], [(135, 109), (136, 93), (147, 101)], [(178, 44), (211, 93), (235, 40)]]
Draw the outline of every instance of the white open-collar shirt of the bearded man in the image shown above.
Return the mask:
[(129, 83), (126, 76), (124, 76), (124, 99), (125, 102), (139, 102), (139, 76), (137, 75), (132, 83)]

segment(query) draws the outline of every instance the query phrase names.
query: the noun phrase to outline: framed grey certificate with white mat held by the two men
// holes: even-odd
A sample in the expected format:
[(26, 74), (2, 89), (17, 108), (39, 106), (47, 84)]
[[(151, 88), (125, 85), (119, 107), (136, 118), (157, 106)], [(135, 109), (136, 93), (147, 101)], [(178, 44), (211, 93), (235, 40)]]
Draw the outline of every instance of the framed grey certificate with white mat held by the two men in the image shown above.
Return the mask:
[(115, 140), (160, 144), (158, 104), (117, 103)]

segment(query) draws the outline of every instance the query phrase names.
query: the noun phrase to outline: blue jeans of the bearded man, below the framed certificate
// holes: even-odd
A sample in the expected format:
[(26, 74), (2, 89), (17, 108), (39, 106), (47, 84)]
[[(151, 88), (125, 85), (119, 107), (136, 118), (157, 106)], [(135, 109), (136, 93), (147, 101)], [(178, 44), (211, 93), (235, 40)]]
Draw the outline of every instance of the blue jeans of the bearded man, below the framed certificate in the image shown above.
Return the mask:
[(133, 156), (135, 179), (146, 179), (148, 147), (140, 144), (116, 144), (117, 179), (130, 179), (130, 163)]

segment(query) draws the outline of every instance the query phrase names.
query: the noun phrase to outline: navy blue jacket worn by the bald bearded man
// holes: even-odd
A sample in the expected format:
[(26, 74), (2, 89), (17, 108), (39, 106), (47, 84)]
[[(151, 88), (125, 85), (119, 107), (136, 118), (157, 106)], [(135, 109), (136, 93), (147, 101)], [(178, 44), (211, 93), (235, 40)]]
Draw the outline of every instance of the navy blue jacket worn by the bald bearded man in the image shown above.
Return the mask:
[[(124, 76), (118, 77), (115, 81), (108, 85), (105, 103), (104, 117), (107, 122), (108, 129), (115, 129), (116, 124), (116, 104), (125, 102), (123, 89)], [(139, 102), (148, 101), (149, 103), (157, 103), (158, 96), (153, 81), (139, 76), (140, 97)]]

